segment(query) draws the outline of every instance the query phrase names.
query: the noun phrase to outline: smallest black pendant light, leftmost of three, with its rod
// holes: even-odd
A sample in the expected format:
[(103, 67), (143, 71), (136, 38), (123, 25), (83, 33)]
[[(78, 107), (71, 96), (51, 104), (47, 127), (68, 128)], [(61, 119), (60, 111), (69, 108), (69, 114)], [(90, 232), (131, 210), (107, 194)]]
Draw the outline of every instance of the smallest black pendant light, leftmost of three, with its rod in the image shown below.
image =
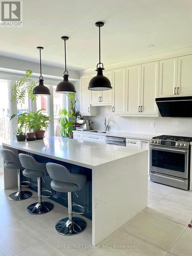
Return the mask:
[(40, 53), (40, 76), (39, 76), (39, 84), (33, 89), (33, 94), (35, 95), (50, 95), (49, 88), (47, 86), (44, 86), (44, 77), (41, 73), (41, 50), (44, 49), (41, 46), (38, 46), (37, 49), (39, 49)]

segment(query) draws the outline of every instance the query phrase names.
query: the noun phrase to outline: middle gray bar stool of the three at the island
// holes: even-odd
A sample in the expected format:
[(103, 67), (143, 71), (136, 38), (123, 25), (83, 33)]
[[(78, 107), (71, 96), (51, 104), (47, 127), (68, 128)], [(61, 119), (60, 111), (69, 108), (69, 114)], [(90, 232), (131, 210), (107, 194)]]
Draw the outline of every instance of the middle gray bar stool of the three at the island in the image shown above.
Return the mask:
[(52, 192), (49, 190), (42, 190), (41, 191), (41, 178), (43, 179), (44, 176), (48, 176), (48, 172), (46, 169), (45, 163), (37, 162), (32, 156), (26, 154), (19, 154), (19, 160), (22, 166), (25, 168), (23, 171), (23, 175), (28, 178), (37, 178), (37, 187), (38, 187), (38, 202), (33, 203), (27, 207), (27, 212), (32, 215), (40, 215), (46, 214), (50, 210), (53, 209), (54, 205), (50, 202), (41, 201), (41, 192), (49, 192), (50, 196), (43, 196), (43, 197), (51, 197)]

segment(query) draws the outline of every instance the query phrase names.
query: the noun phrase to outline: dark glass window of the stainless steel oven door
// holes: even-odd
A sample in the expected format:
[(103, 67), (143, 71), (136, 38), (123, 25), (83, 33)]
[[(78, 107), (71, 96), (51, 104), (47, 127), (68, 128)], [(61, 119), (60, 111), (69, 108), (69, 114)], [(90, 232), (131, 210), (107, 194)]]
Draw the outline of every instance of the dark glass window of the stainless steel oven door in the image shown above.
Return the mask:
[(185, 154), (152, 150), (152, 166), (185, 172)]

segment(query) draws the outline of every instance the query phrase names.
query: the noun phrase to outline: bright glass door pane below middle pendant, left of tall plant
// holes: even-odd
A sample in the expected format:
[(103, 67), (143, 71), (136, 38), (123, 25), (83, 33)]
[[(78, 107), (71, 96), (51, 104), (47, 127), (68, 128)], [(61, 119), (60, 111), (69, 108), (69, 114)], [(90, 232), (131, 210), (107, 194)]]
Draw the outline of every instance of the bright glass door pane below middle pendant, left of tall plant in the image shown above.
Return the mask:
[(54, 135), (60, 136), (59, 110), (63, 109), (63, 94), (56, 93), (56, 86), (53, 86), (53, 112), (54, 112)]

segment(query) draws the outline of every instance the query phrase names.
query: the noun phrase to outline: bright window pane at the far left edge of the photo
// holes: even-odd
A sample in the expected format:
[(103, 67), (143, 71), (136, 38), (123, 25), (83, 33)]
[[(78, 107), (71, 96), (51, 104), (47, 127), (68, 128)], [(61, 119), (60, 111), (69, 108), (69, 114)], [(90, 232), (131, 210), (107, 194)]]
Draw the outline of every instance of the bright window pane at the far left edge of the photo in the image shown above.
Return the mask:
[(10, 110), (8, 80), (0, 79), (0, 144), (10, 140)]

